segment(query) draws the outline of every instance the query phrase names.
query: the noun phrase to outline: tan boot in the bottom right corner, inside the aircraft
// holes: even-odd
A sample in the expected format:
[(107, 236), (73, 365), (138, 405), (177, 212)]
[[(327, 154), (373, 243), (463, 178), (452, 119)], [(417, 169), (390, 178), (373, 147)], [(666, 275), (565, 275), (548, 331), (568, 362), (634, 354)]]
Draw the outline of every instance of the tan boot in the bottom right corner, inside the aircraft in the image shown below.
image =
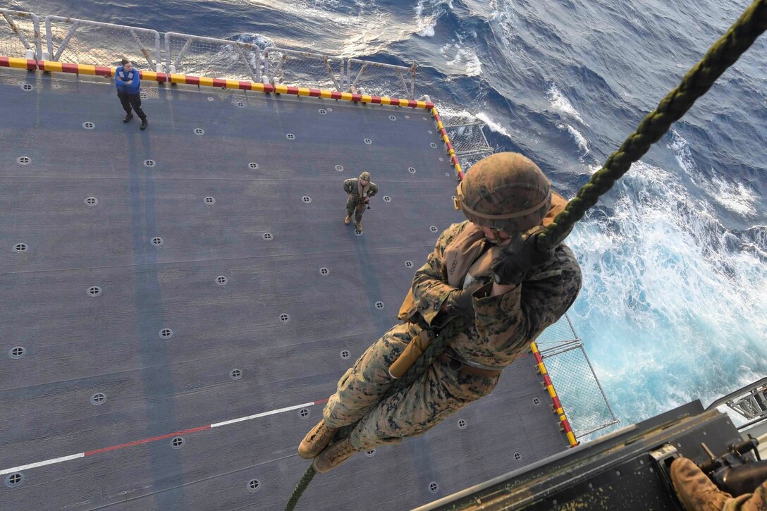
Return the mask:
[(732, 495), (723, 492), (692, 460), (676, 458), (671, 463), (671, 483), (687, 511), (721, 511)]

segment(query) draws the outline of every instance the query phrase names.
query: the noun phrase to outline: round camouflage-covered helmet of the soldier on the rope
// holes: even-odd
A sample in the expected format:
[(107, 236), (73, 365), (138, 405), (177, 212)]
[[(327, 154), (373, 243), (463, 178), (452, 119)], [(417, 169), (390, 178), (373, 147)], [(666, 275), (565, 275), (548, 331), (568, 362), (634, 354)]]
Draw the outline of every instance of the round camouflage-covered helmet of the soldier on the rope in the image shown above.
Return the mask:
[(479, 226), (523, 232), (548, 213), (551, 183), (522, 154), (495, 153), (472, 165), (456, 188), (455, 206)]

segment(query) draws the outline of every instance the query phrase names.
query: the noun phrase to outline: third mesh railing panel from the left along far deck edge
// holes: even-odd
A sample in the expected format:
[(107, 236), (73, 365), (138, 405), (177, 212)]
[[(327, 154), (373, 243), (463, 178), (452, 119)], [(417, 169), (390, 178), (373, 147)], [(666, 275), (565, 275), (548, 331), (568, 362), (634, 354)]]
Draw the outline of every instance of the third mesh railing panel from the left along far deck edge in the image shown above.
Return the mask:
[(166, 32), (169, 73), (238, 81), (261, 81), (261, 48), (252, 43)]

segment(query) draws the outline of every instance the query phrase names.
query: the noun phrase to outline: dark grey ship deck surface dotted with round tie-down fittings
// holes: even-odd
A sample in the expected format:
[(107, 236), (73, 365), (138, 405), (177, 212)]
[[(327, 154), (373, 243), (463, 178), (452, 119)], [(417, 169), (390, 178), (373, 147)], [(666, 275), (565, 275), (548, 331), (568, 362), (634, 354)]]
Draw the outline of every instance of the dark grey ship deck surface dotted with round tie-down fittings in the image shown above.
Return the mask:
[[(108, 81), (0, 73), (0, 470), (84, 454), (3, 474), (2, 509), (282, 509), (317, 402), (462, 219), (424, 110), (148, 85), (141, 132)], [(407, 509), (563, 450), (533, 366), (299, 508)]]

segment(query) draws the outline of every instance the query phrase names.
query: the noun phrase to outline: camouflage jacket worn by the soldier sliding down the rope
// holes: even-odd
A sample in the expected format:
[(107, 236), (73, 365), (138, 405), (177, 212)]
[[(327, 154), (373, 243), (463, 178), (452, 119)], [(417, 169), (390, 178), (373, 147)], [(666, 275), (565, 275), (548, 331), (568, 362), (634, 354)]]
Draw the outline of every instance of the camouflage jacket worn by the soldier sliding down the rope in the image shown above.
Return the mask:
[(459, 358), (502, 367), (565, 314), (581, 290), (581, 268), (571, 250), (560, 244), (554, 257), (528, 272), (521, 285), (504, 295), (489, 296), (492, 282), (485, 278), (488, 283), (472, 298), (473, 320), (457, 317), (446, 323), (448, 318), (439, 308), (455, 288), (447, 284), (443, 255), (468, 224), (468, 220), (454, 223), (439, 236), (434, 252), (413, 277), (413, 298), (426, 323), (444, 325), (440, 335), (449, 336), (449, 348)]

